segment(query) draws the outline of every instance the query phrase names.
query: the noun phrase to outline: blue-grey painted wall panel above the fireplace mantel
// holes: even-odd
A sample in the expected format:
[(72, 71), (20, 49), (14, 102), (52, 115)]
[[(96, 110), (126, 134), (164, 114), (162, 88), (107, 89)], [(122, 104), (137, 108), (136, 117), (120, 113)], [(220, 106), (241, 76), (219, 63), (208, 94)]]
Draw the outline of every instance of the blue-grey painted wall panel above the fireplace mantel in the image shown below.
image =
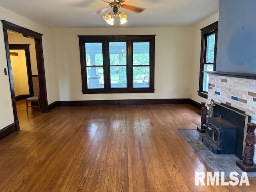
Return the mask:
[(216, 71), (256, 73), (256, 0), (220, 0)]

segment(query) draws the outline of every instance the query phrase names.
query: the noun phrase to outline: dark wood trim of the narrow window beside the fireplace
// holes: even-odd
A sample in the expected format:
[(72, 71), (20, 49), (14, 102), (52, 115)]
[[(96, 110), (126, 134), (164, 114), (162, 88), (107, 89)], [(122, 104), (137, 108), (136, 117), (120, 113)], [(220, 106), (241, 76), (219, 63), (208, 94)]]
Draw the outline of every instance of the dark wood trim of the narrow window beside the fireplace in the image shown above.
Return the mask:
[(203, 71), (204, 63), (206, 59), (206, 46), (207, 46), (207, 37), (210, 34), (215, 33), (215, 49), (214, 49), (214, 62), (213, 69), (216, 70), (216, 54), (217, 54), (217, 41), (218, 41), (218, 21), (206, 26), (201, 29), (202, 40), (201, 40), (201, 56), (200, 56), (200, 75), (199, 75), (199, 91), (198, 95), (204, 98), (208, 98), (208, 93), (203, 91)]

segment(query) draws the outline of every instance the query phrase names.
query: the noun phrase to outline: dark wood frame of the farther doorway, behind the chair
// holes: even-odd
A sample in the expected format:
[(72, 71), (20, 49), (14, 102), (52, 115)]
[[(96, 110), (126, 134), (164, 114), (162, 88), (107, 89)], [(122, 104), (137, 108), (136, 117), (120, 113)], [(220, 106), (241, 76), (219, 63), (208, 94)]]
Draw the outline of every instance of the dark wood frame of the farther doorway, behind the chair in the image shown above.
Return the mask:
[[(10, 50), (16, 49), (16, 50), (25, 51), (27, 74), (28, 74), (28, 89), (29, 89), (29, 95), (24, 95), (26, 96), (26, 98), (34, 96), (29, 46), (30, 44), (9, 44)], [(16, 96), (16, 101), (17, 101), (17, 96)]]

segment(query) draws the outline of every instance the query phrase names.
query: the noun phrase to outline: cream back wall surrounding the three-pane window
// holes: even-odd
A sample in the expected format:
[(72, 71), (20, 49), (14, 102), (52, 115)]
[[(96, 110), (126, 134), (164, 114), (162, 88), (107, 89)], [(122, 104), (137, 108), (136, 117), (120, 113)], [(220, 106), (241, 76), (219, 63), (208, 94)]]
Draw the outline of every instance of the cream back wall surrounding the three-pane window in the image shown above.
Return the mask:
[[(60, 101), (188, 98), (192, 28), (53, 29)], [(155, 93), (82, 94), (78, 35), (156, 34)]]

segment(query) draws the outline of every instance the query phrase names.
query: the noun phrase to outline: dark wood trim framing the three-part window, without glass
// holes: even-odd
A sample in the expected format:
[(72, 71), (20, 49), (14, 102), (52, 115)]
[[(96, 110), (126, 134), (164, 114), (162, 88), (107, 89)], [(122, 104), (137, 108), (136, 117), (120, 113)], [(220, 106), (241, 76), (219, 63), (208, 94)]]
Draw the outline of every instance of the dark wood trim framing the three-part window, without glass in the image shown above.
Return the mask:
[[(154, 93), (154, 64), (155, 64), (155, 36), (156, 35), (138, 35), (138, 36), (78, 36), (80, 47), (80, 63), (82, 75), (82, 93)], [(85, 43), (101, 42), (103, 51), (103, 69), (104, 69), (104, 89), (88, 89), (86, 77), (86, 57)], [(109, 42), (126, 42), (127, 59), (127, 88), (110, 88), (110, 60), (109, 60)], [(133, 42), (150, 43), (150, 83), (149, 88), (133, 88)], [(140, 65), (138, 65), (140, 66)]]

